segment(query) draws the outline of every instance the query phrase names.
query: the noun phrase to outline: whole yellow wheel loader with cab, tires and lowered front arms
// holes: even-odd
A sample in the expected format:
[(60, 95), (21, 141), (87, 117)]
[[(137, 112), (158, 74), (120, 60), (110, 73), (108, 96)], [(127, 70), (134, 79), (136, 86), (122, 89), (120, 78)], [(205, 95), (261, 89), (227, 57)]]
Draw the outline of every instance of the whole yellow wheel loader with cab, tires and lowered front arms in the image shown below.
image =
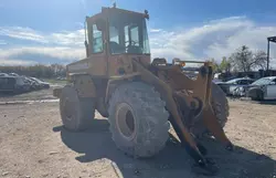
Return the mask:
[[(229, 116), (224, 93), (212, 83), (212, 63), (150, 59), (146, 21), (148, 11), (116, 7), (86, 17), (86, 59), (66, 65), (67, 84), (54, 90), (60, 98), (63, 125), (83, 130), (97, 111), (107, 117), (113, 140), (132, 157), (158, 154), (172, 125), (181, 145), (195, 160), (195, 168), (214, 175), (197, 140), (205, 133), (232, 150), (224, 134)], [(183, 72), (187, 63), (201, 63), (195, 78)]]

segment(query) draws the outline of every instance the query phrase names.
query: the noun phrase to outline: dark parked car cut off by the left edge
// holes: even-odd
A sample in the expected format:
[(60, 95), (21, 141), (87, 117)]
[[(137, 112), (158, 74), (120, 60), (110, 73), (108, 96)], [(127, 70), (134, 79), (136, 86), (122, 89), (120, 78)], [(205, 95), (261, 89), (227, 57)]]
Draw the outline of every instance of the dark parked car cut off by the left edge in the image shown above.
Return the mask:
[(24, 82), (23, 77), (0, 76), (0, 92), (23, 93), (29, 92), (30, 85)]

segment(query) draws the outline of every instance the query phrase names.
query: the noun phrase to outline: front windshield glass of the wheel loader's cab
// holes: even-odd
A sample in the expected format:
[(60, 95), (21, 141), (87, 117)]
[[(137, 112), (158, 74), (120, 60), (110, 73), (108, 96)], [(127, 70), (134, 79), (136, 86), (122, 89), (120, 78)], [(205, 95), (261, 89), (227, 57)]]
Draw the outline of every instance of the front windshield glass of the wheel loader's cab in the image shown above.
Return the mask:
[(112, 54), (149, 54), (146, 20), (137, 14), (116, 13), (109, 20), (109, 48)]

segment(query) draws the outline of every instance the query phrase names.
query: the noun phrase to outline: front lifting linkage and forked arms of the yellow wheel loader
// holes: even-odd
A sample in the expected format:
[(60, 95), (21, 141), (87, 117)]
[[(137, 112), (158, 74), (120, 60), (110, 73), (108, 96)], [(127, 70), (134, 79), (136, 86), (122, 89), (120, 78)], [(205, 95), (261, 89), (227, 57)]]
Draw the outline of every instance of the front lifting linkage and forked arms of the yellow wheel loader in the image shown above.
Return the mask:
[[(226, 148), (233, 148), (211, 105), (212, 63), (174, 60), (173, 64), (167, 64), (160, 59), (157, 61), (152, 62), (151, 71), (170, 86), (172, 100), (168, 96), (169, 98), (166, 98), (166, 102), (171, 114), (170, 122), (181, 140), (181, 145), (205, 175), (216, 172), (214, 165), (204, 158), (206, 149), (197, 143), (190, 132), (191, 126), (198, 119), (203, 119), (204, 126), (217, 140)], [(190, 78), (183, 73), (182, 67), (185, 63), (203, 64), (195, 78)], [(199, 117), (200, 115), (203, 115), (203, 118)]]

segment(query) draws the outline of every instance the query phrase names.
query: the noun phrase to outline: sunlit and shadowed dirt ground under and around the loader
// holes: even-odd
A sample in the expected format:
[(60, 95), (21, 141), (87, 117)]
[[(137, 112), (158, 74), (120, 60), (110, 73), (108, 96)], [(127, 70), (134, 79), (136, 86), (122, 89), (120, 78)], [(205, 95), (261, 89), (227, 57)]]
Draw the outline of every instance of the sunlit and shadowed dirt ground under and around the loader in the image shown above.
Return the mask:
[[(70, 133), (62, 126), (59, 102), (7, 101), (0, 97), (1, 178), (204, 177), (191, 171), (192, 160), (180, 144), (168, 140), (155, 158), (132, 159), (116, 149), (108, 123), (99, 115), (87, 132)], [(226, 151), (214, 140), (203, 142), (209, 156), (220, 166), (215, 177), (275, 178), (275, 103), (231, 100), (230, 107), (225, 130), (235, 150)]]

